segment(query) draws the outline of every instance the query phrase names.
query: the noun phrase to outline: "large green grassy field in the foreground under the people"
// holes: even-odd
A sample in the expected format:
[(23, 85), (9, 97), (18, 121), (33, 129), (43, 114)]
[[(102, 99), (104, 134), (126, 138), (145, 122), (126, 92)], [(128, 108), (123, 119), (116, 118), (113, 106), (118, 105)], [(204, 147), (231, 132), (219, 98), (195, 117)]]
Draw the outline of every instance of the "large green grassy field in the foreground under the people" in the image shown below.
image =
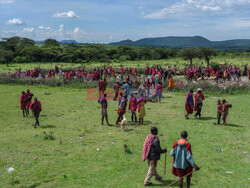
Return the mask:
[[(43, 105), (38, 129), (33, 128), (34, 119), (23, 118), (20, 110), (19, 95), (27, 87)], [(0, 91), (0, 187), (143, 187), (147, 164), (141, 161), (142, 147), (152, 125), (159, 129), (162, 147), (168, 148), (167, 175), (163, 182), (153, 180), (156, 187), (176, 179), (169, 152), (182, 130), (188, 131), (194, 159), (201, 166), (193, 174), (192, 187), (249, 186), (247, 94), (223, 96), (233, 105), (226, 127), (213, 125), (219, 96), (205, 92), (202, 119), (185, 120), (185, 93), (173, 92), (161, 104), (146, 105), (145, 126), (128, 125), (122, 132), (118, 126), (100, 125), (100, 106), (86, 100), (85, 89), (0, 85)], [(109, 101), (108, 110), (114, 124), (117, 102)], [(55, 140), (44, 139), (43, 132), (50, 131)], [(124, 144), (132, 154), (124, 153)], [(160, 174), (163, 164), (164, 156)], [(8, 172), (9, 167), (15, 170)]]

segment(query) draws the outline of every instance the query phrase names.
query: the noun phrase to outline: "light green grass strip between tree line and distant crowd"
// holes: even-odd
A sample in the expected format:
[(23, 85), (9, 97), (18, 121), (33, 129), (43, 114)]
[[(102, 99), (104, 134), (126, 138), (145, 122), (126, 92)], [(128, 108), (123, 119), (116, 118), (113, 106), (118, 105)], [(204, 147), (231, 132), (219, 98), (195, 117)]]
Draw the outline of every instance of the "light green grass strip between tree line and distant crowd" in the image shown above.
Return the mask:
[[(250, 66), (250, 57), (214, 57), (212, 58), (211, 62), (226, 62), (228, 64), (237, 65), (241, 68), (245, 64), (248, 64)], [(199, 59), (194, 59), (193, 61), (194, 65), (197, 66), (206, 66), (206, 63), (204, 60), (200, 61)], [(54, 69), (55, 65), (58, 65), (59, 67), (62, 67), (64, 69), (66, 68), (76, 68), (76, 67), (86, 67), (86, 68), (93, 68), (93, 67), (103, 67), (103, 63), (99, 62), (91, 62), (89, 64), (77, 64), (77, 63), (23, 63), (23, 64), (15, 64), (12, 63), (8, 67), (5, 64), (0, 64), (0, 73), (1, 72), (14, 72), (21, 68), (22, 70), (30, 70), (34, 69), (35, 67), (40, 67), (43, 69)], [(189, 65), (189, 61), (185, 61), (181, 58), (176, 59), (167, 59), (167, 60), (149, 60), (149, 61), (117, 61), (112, 63), (106, 63), (105, 66), (113, 66), (113, 67), (120, 67), (120, 66), (131, 66), (131, 67), (137, 67), (137, 68), (145, 68), (146, 66), (152, 66), (152, 65), (161, 65), (163, 67), (165, 66), (174, 66), (177, 65), (178, 69), (183, 70), (183, 68), (186, 65)]]

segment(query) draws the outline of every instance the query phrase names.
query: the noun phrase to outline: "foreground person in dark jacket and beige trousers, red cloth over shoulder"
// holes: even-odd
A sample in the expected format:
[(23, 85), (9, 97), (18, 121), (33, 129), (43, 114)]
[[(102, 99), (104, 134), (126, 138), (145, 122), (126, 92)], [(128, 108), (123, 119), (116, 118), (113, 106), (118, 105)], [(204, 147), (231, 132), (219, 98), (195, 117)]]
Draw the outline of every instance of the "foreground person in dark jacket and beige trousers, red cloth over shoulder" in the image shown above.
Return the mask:
[(160, 145), (160, 140), (157, 136), (158, 129), (156, 127), (151, 127), (151, 134), (147, 136), (143, 146), (142, 161), (148, 160), (148, 173), (144, 180), (145, 186), (150, 186), (151, 178), (155, 176), (155, 180), (161, 180), (162, 177), (157, 173), (156, 167), (157, 162), (161, 158), (162, 153), (166, 153), (167, 149), (162, 149)]

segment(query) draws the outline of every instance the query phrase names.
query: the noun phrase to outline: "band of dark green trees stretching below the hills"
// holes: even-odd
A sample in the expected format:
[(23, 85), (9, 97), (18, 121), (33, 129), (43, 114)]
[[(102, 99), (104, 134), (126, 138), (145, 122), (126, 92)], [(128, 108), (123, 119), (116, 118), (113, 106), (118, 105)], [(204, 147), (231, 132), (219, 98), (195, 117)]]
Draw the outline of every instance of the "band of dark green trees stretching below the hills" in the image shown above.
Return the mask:
[(36, 44), (32, 39), (18, 36), (3, 38), (0, 41), (0, 63), (7, 65), (12, 62), (89, 63), (91, 61), (159, 60), (176, 57), (189, 60), (191, 65), (193, 58), (204, 59), (209, 65), (210, 59), (218, 53), (222, 52), (207, 47), (166, 49), (118, 46), (109, 49), (103, 44), (60, 44), (54, 39), (47, 39), (43, 44)]

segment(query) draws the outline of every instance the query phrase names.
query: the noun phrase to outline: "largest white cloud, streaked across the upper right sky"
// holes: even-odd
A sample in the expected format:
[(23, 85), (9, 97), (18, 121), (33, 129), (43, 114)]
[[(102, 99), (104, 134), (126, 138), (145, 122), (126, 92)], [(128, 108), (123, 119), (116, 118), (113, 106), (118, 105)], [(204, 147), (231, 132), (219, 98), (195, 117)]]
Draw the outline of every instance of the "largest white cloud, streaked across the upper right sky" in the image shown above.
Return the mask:
[(142, 15), (148, 19), (235, 13), (235, 7), (250, 7), (250, 0), (181, 0), (169, 7)]

